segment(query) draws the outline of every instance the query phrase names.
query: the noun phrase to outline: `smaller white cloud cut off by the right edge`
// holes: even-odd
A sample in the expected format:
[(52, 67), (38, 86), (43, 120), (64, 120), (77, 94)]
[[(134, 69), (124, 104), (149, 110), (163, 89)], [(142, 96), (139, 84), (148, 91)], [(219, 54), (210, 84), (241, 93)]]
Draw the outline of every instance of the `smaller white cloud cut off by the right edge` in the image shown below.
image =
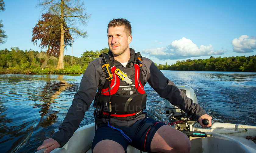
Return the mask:
[(241, 35), (238, 39), (232, 40), (233, 51), (237, 53), (249, 53), (254, 52), (256, 49), (255, 37), (249, 38), (247, 35)]

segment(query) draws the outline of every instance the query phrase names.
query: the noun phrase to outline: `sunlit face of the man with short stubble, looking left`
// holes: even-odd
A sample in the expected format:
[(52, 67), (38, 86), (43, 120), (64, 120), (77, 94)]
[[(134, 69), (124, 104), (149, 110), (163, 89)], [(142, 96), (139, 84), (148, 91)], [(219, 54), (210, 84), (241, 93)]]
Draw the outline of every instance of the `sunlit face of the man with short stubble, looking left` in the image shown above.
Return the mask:
[(110, 51), (118, 56), (125, 51), (129, 51), (129, 44), (132, 41), (132, 36), (127, 36), (124, 26), (116, 26), (108, 28), (108, 47)]

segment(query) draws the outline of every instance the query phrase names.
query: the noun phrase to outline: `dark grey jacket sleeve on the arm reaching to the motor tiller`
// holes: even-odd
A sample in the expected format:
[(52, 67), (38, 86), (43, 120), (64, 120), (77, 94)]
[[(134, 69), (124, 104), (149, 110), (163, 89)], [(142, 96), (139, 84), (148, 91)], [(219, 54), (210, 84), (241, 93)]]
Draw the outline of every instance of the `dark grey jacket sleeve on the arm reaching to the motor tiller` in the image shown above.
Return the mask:
[(150, 59), (144, 57), (143, 59), (142, 71), (144, 72), (145, 81), (148, 81), (160, 97), (167, 99), (172, 105), (182, 109), (195, 119), (206, 114), (200, 105), (194, 104), (186, 94), (166, 78)]

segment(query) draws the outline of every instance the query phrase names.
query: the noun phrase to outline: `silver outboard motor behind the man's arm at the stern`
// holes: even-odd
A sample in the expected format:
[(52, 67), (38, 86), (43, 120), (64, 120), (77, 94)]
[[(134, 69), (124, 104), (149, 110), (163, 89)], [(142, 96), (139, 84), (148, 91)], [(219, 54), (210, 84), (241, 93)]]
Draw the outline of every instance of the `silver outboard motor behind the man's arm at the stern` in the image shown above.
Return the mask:
[[(193, 100), (193, 103), (197, 104), (197, 96), (194, 92), (194, 89), (188, 85), (177, 85), (177, 87), (183, 91), (187, 97)], [(170, 101), (165, 100), (165, 112), (167, 119), (169, 119), (169, 125), (173, 128), (176, 128), (180, 131), (194, 131), (195, 120), (190, 118), (183, 110), (174, 106)]]

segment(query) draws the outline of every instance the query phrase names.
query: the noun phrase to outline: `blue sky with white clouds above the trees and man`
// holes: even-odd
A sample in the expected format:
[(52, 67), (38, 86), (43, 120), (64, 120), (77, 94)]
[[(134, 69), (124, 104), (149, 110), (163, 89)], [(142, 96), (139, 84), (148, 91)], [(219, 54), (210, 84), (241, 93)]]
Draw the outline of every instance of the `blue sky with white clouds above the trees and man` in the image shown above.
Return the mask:
[[(44, 13), (36, 0), (4, 0), (0, 12), (7, 42), (0, 49), (19, 47), (41, 51), (31, 42), (32, 28)], [(91, 14), (87, 38), (75, 38), (73, 55), (108, 47), (107, 25), (127, 18), (132, 25), (130, 48), (157, 64), (178, 60), (256, 55), (256, 1), (84, 1)], [(44, 50), (43, 50), (44, 51)], [(72, 47), (64, 51), (72, 55)]]

